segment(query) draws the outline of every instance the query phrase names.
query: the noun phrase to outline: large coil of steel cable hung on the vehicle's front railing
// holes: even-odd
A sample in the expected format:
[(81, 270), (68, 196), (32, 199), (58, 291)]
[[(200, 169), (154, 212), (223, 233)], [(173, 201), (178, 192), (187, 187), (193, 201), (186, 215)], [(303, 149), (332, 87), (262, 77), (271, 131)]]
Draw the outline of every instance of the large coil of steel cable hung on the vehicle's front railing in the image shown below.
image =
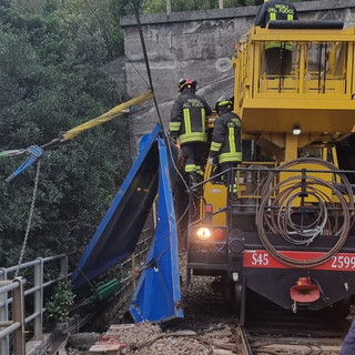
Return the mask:
[[(334, 174), (343, 183), (345, 195), (339, 184), (310, 175), (310, 173), (287, 172), (288, 176), (290, 174), (293, 176), (281, 179), (280, 174), (287, 169), (294, 165), (306, 166), (306, 164), (312, 164), (313, 169), (314, 165), (326, 168), (324, 173)], [(339, 252), (347, 239), (352, 220), (351, 211), (354, 209), (351, 184), (333, 164), (317, 159), (293, 160), (280, 166), (278, 170), (280, 172), (270, 173), (262, 191), (256, 215), (260, 239), (265, 250), (285, 265), (314, 267), (323, 264)], [(332, 195), (335, 200), (332, 199)], [(307, 204), (304, 204), (305, 197), (308, 199)], [(312, 203), (310, 200), (313, 200)], [(295, 220), (297, 216), (301, 219), (300, 222)], [(327, 253), (320, 257), (296, 260), (281, 254), (270, 242), (267, 236), (270, 233), (282, 235), (285, 241), (297, 246), (308, 246), (321, 235), (337, 237), (337, 241)]]

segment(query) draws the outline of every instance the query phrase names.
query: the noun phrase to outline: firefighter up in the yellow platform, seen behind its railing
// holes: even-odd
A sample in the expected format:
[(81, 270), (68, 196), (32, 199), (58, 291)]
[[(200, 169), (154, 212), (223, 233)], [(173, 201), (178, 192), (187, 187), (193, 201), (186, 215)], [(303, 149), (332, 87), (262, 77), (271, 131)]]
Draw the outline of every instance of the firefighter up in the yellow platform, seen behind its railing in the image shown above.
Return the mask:
[[(255, 26), (266, 28), (268, 21), (298, 20), (296, 8), (284, 0), (264, 0), (257, 11)], [(292, 42), (265, 43), (265, 71), (270, 75), (290, 75), (292, 70)]]

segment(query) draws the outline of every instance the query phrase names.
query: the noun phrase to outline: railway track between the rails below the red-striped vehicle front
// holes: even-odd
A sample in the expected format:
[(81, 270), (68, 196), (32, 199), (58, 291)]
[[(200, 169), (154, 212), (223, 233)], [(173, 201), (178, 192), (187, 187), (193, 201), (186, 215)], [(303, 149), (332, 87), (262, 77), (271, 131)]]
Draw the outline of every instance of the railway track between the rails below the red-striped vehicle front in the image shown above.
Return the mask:
[(326, 313), (292, 314), (265, 300), (250, 304), (246, 314), (235, 334), (241, 355), (337, 355), (349, 327)]

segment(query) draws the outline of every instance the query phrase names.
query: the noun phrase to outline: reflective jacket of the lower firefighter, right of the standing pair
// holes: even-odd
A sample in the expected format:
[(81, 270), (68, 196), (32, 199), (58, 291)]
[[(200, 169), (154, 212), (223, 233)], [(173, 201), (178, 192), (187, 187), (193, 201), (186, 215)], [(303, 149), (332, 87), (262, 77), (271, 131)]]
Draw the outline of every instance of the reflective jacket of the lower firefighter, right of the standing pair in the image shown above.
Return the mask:
[(227, 109), (214, 123), (210, 156), (219, 156), (220, 164), (242, 161), (241, 120)]

